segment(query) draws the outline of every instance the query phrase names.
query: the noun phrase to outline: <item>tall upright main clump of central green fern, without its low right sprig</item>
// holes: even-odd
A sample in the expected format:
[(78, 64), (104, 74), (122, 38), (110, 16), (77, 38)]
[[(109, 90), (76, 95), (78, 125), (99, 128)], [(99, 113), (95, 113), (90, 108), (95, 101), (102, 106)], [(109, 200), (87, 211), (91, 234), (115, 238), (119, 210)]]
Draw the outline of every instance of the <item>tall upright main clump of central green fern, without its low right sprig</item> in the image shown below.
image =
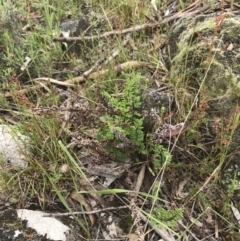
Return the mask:
[[(111, 115), (101, 118), (98, 139), (108, 141), (106, 149), (120, 160), (133, 152), (146, 153), (144, 145), (143, 117), (139, 110), (142, 104), (143, 91), (146, 82), (139, 74), (128, 74), (121, 94), (117, 87), (117, 96), (102, 91), (102, 96), (108, 102)], [(126, 148), (130, 151), (126, 153)]]

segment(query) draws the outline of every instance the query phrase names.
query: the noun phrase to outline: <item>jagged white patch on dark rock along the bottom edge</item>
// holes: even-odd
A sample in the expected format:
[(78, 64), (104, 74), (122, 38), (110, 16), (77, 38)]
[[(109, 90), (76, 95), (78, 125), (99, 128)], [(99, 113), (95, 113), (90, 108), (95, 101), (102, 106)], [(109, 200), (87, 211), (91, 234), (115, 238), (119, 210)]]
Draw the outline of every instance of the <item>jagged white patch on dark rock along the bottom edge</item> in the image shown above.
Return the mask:
[(27, 209), (17, 209), (17, 215), (21, 220), (27, 220), (27, 227), (30, 227), (39, 235), (52, 240), (66, 241), (65, 232), (70, 228), (53, 217), (43, 217), (44, 212)]

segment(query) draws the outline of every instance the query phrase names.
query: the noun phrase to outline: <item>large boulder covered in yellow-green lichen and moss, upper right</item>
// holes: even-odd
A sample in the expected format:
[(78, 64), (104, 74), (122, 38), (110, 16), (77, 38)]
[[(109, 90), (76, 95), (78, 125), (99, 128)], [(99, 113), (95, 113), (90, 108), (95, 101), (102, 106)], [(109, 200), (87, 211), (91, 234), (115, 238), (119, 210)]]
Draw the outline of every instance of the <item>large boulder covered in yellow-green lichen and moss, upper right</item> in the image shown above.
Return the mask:
[[(183, 18), (170, 34), (171, 79), (188, 81), (196, 89), (204, 81), (206, 94), (220, 107), (214, 113), (221, 116), (229, 115), (240, 97), (240, 19), (226, 15), (223, 21), (217, 31), (215, 15)], [(229, 98), (233, 105), (225, 106)]]

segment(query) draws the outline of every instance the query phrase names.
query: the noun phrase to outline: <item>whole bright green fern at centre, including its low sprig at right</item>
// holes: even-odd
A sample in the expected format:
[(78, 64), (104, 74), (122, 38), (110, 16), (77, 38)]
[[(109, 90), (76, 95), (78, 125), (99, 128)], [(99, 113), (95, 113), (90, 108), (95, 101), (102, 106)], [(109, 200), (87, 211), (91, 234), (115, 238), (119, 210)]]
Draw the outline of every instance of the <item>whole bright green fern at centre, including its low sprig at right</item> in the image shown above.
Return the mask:
[(125, 74), (125, 77), (122, 93), (117, 86), (113, 87), (114, 94), (102, 91), (109, 112), (100, 118), (97, 138), (106, 142), (106, 150), (119, 160), (130, 156), (136, 160), (138, 154), (148, 155), (154, 170), (159, 170), (164, 164), (170, 164), (172, 156), (163, 145), (151, 140), (151, 135), (143, 129), (141, 106), (147, 83), (140, 74)]

